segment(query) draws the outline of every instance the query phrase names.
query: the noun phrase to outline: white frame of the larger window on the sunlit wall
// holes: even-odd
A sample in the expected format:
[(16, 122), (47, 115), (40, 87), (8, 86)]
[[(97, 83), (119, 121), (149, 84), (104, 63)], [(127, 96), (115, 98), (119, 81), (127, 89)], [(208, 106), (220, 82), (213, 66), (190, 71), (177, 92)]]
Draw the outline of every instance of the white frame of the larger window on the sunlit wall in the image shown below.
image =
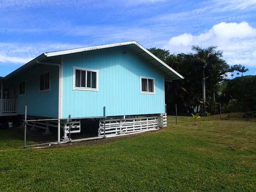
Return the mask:
[[(85, 85), (87, 86), (87, 72), (96, 72), (96, 88), (90, 87), (76, 87), (76, 70), (86, 71), (86, 82)], [(73, 66), (73, 90), (88, 90), (88, 91), (97, 91), (99, 89), (99, 70), (96, 69), (89, 69), (89, 68), (82, 68), (82, 67), (75, 67)]]

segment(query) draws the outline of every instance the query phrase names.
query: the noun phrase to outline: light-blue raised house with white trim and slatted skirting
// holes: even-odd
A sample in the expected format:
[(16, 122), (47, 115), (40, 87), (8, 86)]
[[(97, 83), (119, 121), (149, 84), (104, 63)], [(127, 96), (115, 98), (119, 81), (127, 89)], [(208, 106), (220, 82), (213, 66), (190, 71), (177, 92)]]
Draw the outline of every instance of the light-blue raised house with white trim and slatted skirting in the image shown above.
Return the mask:
[(70, 117), (72, 132), (80, 119), (99, 120), (98, 136), (155, 129), (165, 126), (164, 81), (181, 78), (136, 41), (47, 52), (0, 79), (0, 116), (27, 106), (38, 127), (58, 127), (58, 140)]

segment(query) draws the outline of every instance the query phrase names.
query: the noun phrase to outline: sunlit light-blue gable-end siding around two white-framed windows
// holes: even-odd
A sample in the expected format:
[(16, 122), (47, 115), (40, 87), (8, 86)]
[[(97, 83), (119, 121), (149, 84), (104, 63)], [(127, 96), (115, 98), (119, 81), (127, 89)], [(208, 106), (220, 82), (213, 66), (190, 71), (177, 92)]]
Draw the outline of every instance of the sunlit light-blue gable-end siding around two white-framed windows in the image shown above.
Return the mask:
[[(72, 90), (73, 66), (99, 70), (98, 92)], [(140, 76), (155, 78), (155, 94), (140, 94)], [(62, 118), (164, 113), (164, 74), (122, 47), (69, 54), (62, 94)]]

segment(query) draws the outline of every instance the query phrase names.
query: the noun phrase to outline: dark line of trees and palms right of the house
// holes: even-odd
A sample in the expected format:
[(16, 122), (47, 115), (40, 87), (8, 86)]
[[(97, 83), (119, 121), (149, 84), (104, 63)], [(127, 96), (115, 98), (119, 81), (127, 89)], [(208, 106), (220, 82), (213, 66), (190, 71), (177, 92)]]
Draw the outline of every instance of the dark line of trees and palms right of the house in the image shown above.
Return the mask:
[[(230, 67), (222, 59), (223, 51), (217, 50), (217, 46), (202, 48), (193, 45), (193, 52), (188, 54), (170, 54), (169, 50), (160, 48), (148, 50), (184, 76), (181, 80), (165, 82), (168, 114), (174, 114), (176, 105), (178, 113), (199, 112), (202, 109), (214, 113), (217, 102), (229, 102), (236, 98), (235, 79), (243, 78), (242, 83), (247, 82), (243, 73), (248, 69), (242, 65)], [(238, 76), (242, 72), (242, 76), (233, 79), (234, 71), (237, 71)], [(232, 80), (227, 79), (228, 72), (231, 72)], [(250, 83), (253, 81), (251, 79)], [(256, 97), (254, 98), (256, 101)]]

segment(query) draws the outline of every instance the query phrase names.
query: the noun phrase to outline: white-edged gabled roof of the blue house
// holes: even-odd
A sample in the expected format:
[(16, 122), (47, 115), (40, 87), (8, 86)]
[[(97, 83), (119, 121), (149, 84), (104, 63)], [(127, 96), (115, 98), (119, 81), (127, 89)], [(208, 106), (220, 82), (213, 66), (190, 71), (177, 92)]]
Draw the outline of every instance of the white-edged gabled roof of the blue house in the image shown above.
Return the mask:
[(114, 43), (114, 44), (106, 44), (106, 45), (99, 45), (99, 46), (91, 46), (91, 47), (84, 47), (84, 48), (76, 48), (76, 49), (69, 49), (69, 50), (62, 50), (62, 51), (55, 51), (55, 52), (46, 52), (41, 54), (40, 56), (34, 58), (27, 64), (21, 66), (14, 72), (8, 74), (4, 79), (10, 78), (11, 76), (14, 76), (16, 74), (19, 74), (26, 68), (30, 66), (34, 66), (37, 63), (37, 61), (45, 61), (47, 58), (52, 58), (52, 60), (56, 61), (55, 63), (60, 64), (61, 56), (66, 54), (73, 54), (78, 52), (84, 52), (84, 51), (91, 51), (91, 50), (98, 50), (98, 49), (104, 49), (104, 48), (111, 48), (111, 47), (118, 47), (118, 46), (125, 46), (126, 48), (129, 48), (142, 58), (144, 58), (146, 61), (148, 61), (150, 64), (154, 65), (156, 68), (159, 68), (162, 72), (164, 72), (165, 80), (171, 81), (176, 79), (182, 79), (183, 76), (180, 75), (178, 72), (173, 70), (170, 66), (168, 66), (166, 63), (162, 62), (159, 58), (157, 58), (154, 54), (149, 52), (146, 48), (141, 46), (138, 42), (134, 41), (128, 41), (128, 42), (120, 42), (120, 43)]

